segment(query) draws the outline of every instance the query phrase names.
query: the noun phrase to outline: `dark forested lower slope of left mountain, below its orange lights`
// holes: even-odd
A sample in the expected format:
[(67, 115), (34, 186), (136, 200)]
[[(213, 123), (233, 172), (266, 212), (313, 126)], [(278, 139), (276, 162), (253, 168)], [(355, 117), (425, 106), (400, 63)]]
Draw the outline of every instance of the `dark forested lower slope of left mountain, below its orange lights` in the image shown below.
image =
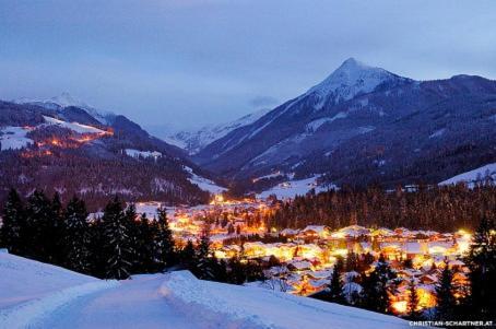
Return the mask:
[(187, 180), (179, 160), (137, 160), (109, 153), (98, 144), (80, 149), (50, 146), (50, 155), (42, 150), (32, 146), (24, 153), (1, 152), (0, 203), (7, 200), (10, 187), (22, 195), (35, 188), (47, 195), (59, 191), (63, 203), (76, 195), (91, 211), (105, 207), (114, 195), (132, 202), (157, 200), (177, 204), (206, 203), (210, 199), (208, 192)]

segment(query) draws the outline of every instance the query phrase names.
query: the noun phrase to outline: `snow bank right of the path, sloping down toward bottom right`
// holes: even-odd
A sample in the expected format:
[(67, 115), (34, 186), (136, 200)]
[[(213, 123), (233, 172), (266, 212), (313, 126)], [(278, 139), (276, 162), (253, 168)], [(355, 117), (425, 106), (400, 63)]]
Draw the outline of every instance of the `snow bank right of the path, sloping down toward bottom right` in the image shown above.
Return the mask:
[(197, 280), (172, 272), (161, 289), (185, 314), (201, 316), (217, 328), (408, 328), (393, 316), (294, 296), (262, 287)]

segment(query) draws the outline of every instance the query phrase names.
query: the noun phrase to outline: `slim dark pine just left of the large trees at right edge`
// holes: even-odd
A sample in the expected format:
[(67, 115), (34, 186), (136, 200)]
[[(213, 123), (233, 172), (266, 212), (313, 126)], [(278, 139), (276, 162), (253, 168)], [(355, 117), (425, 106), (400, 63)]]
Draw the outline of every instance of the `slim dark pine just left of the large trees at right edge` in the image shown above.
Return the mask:
[(439, 320), (449, 320), (453, 316), (454, 296), (452, 286), (453, 273), (449, 269), (448, 263), (445, 263), (442, 272), (438, 275), (438, 284), (436, 285), (437, 306), (436, 317)]

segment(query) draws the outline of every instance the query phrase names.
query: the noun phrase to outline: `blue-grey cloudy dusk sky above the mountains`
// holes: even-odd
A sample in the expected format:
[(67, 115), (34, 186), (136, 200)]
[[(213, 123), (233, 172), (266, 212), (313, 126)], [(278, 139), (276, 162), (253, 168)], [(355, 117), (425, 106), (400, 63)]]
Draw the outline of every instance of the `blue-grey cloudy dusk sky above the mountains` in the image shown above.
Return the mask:
[(146, 128), (287, 101), (349, 57), (496, 79), (496, 1), (0, 0), (0, 98), (68, 92)]

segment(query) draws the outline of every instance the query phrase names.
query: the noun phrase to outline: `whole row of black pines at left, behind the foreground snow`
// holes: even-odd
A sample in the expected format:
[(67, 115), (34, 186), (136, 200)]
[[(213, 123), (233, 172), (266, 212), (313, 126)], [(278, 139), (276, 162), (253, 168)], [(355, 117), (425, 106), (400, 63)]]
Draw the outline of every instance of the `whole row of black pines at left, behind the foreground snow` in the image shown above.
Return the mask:
[(27, 200), (9, 192), (0, 227), (0, 246), (9, 252), (103, 279), (163, 272), (176, 267), (200, 279), (241, 284), (263, 279), (260, 263), (214, 257), (209, 230), (185, 247), (175, 245), (166, 211), (147, 219), (115, 197), (101, 218), (88, 221), (85, 202), (73, 197), (62, 207), (35, 190)]

